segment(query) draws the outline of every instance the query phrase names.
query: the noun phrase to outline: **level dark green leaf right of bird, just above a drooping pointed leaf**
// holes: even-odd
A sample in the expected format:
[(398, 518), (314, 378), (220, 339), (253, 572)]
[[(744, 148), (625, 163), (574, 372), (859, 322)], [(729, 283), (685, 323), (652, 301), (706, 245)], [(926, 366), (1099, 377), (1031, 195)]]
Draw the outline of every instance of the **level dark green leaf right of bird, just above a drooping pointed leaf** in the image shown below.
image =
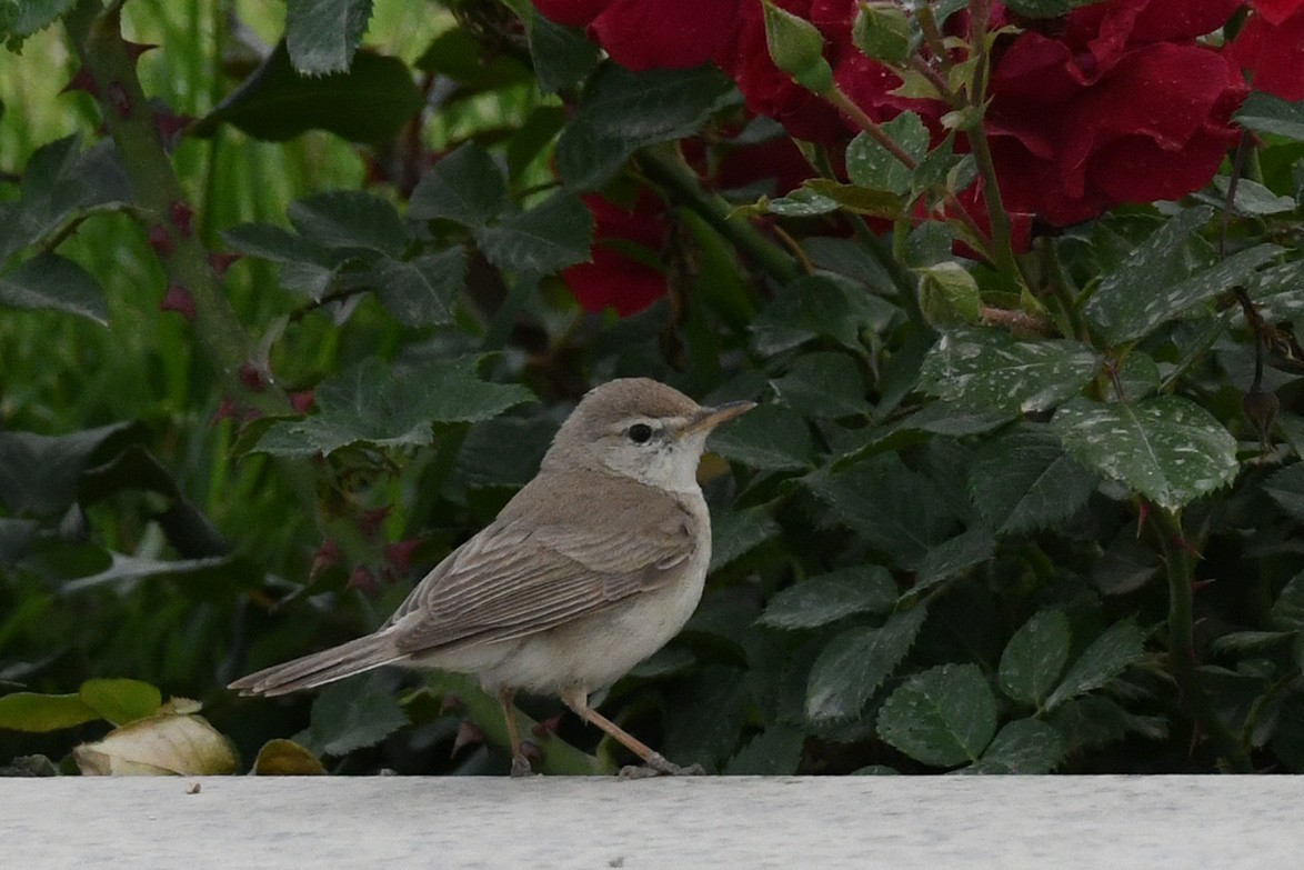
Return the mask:
[(857, 565), (790, 586), (765, 605), (758, 625), (772, 629), (814, 629), (853, 613), (885, 613), (897, 600), (887, 569)]

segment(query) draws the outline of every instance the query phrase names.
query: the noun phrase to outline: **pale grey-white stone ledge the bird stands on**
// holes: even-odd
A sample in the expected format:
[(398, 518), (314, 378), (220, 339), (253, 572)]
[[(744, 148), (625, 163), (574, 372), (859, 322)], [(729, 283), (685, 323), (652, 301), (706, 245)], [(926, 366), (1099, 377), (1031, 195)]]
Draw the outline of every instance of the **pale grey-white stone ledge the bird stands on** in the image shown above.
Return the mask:
[(1290, 776), (0, 780), (0, 867), (1257, 870), (1301, 866), (1301, 807)]

